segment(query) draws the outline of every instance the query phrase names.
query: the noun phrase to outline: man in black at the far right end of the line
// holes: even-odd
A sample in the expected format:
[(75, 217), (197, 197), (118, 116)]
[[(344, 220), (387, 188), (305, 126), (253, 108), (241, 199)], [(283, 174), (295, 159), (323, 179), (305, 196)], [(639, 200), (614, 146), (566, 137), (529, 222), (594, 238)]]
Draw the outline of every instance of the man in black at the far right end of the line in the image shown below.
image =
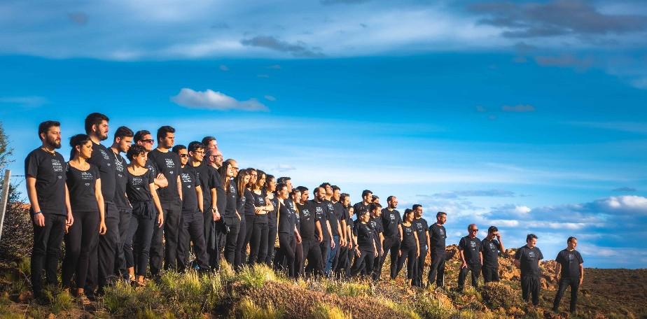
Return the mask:
[[(569, 237), (566, 240), (568, 246), (557, 254), (555, 261), (555, 274), (559, 276), (559, 290), (552, 302), (552, 311), (559, 312), (559, 301), (562, 300), (566, 288), (571, 286), (571, 313), (576, 313), (578, 303), (578, 290), (584, 281), (584, 260), (580, 252), (575, 250), (578, 246), (578, 239)], [(560, 271), (561, 269), (561, 271)]]

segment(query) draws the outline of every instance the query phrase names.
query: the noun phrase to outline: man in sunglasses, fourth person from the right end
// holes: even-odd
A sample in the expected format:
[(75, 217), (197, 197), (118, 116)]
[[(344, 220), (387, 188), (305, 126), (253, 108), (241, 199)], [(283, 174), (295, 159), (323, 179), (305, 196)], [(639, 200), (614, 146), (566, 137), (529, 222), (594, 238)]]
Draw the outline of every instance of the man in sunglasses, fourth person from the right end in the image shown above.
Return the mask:
[(483, 254), (481, 253), (481, 241), (476, 238), (478, 227), (476, 224), (470, 224), (467, 227), (468, 235), (461, 238), (459, 243), (459, 253), (461, 257), (461, 272), (459, 273), (458, 290), (463, 291), (465, 287), (465, 278), (467, 273), (471, 272), (472, 285), (478, 286), (478, 275), (483, 264)]

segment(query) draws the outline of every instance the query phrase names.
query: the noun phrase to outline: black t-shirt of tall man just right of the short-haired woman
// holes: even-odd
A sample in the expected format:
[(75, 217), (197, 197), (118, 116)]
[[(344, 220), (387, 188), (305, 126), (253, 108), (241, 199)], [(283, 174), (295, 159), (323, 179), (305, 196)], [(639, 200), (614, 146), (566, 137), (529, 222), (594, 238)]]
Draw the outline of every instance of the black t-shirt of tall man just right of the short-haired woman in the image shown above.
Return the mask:
[(158, 193), (162, 203), (169, 203), (180, 199), (180, 194), (177, 192), (177, 176), (182, 173), (180, 167), (180, 157), (171, 151), (162, 153), (160, 150), (155, 149), (148, 152), (148, 158), (151, 159), (158, 169), (158, 173), (164, 174), (169, 185), (160, 188)]

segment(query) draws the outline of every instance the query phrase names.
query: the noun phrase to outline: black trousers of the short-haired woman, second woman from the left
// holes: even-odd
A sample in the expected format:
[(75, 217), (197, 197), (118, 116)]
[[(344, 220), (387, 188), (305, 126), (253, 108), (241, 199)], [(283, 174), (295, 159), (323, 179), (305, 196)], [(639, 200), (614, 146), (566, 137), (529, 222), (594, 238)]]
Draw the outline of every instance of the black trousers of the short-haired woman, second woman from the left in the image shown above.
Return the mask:
[(132, 203), (132, 216), (124, 243), (124, 257), (127, 267), (134, 267), (137, 276), (146, 276), (150, 259), (153, 232), (160, 225), (153, 201)]

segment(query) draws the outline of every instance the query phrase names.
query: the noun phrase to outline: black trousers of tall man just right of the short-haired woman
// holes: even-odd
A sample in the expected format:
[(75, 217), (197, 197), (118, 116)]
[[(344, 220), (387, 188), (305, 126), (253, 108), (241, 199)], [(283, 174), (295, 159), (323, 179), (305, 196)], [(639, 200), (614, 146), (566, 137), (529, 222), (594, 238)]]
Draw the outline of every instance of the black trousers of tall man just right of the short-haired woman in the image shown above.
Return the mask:
[[(177, 246), (179, 241), (182, 203), (179, 199), (162, 203), (164, 226), (155, 227), (151, 243), (151, 274), (157, 276), (162, 269), (177, 269)], [(162, 236), (165, 243), (162, 243)], [(162, 260), (163, 256), (163, 260)]]

